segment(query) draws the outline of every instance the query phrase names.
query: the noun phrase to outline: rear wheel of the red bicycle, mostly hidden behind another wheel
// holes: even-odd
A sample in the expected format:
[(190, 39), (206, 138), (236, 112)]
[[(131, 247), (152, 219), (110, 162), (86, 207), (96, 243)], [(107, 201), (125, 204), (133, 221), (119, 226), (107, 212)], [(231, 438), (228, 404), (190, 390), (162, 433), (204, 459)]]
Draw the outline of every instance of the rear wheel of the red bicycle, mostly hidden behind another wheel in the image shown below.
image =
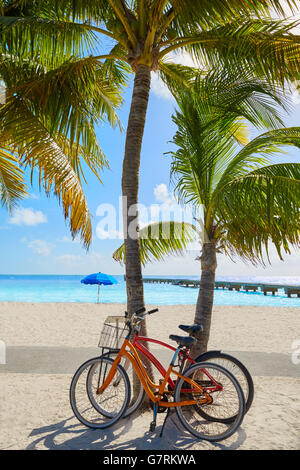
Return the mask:
[(207, 351), (200, 354), (195, 361), (210, 361), (214, 364), (220, 364), (231, 372), (242, 387), (246, 405), (245, 412), (247, 413), (249, 411), (254, 399), (254, 383), (247, 367), (239, 359), (230, 354), (223, 353), (222, 351)]

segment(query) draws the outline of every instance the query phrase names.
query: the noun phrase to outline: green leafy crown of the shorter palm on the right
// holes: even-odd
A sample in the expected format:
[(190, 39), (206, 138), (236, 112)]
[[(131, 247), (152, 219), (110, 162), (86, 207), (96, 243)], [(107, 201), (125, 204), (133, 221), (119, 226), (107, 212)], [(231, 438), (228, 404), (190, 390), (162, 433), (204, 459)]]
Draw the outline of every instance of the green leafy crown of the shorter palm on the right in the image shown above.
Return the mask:
[[(246, 81), (239, 86), (232, 80), (228, 87), (225, 76), (223, 86), (220, 77), (211, 86), (215, 77), (208, 75), (200, 88), (195, 82), (193, 90), (198, 93), (193, 98), (191, 90), (178, 94), (179, 111), (173, 117), (177, 150), (170, 152), (172, 179), (180, 198), (203, 204), (202, 223), (210, 240), (229, 256), (263, 263), (271, 243), (280, 257), (300, 244), (300, 164), (270, 162), (271, 156), (290, 146), (300, 148), (300, 128), (278, 128), (275, 107), (273, 122), (267, 84), (248, 87)], [(264, 100), (256, 99), (257, 92), (263, 96), (264, 85), (266, 110)], [(282, 97), (273, 99), (280, 103)], [(240, 148), (231, 126), (238, 129), (240, 116), (260, 127), (265, 112), (275, 128)]]

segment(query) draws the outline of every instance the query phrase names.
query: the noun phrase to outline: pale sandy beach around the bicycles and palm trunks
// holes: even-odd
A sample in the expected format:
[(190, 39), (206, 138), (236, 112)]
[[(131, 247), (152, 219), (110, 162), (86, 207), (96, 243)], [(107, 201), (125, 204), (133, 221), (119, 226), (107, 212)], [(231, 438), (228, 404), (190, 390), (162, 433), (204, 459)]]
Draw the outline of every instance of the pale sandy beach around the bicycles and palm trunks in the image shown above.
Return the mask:
[[(214, 308), (209, 348), (246, 358), (255, 384), (253, 405), (230, 439), (218, 444), (197, 441), (184, 432), (175, 414), (162, 438), (163, 414), (155, 433), (149, 433), (150, 412), (123, 419), (106, 431), (81, 425), (68, 396), (80, 365), (77, 359), (89, 357), (93, 348), (97, 352), (106, 316), (124, 309), (121, 304), (0, 303), (0, 339), (7, 347), (7, 364), (0, 365), (0, 448), (300, 448), (300, 365), (292, 362), (293, 342), (300, 334), (297, 308)], [(193, 305), (161, 306), (148, 319), (149, 336), (168, 341), (169, 334), (179, 334), (179, 323), (193, 322), (193, 311)], [(35, 360), (30, 362), (30, 357)]]

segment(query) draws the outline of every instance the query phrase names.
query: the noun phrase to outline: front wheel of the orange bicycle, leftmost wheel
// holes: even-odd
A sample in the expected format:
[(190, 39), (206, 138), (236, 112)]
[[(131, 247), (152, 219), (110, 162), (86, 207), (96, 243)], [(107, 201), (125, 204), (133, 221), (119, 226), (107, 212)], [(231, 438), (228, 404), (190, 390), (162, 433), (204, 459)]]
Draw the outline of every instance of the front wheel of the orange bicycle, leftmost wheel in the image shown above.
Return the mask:
[[(97, 414), (96, 414), (95, 408), (91, 405), (89, 397), (87, 397), (87, 390), (86, 390), (87, 379), (86, 377), (83, 377), (83, 375), (84, 373), (88, 373), (91, 367), (99, 363), (99, 360), (101, 361), (101, 364), (106, 363), (108, 367), (112, 366), (114, 362), (112, 359), (101, 358), (101, 357), (100, 358), (94, 357), (84, 362), (77, 369), (77, 371), (75, 372), (72, 378), (71, 385), (70, 385), (70, 393), (69, 393), (70, 404), (71, 404), (71, 408), (73, 410), (74, 415), (82, 424), (93, 429), (105, 429), (105, 428), (108, 428), (109, 426), (112, 426), (117, 421), (119, 421), (119, 419), (125, 413), (128, 403), (130, 401), (130, 382), (129, 382), (126, 371), (120, 364), (118, 364), (117, 373), (121, 377), (121, 380), (123, 381), (123, 384), (124, 384), (123, 397), (121, 399), (120, 394), (119, 394), (118, 399), (113, 401), (113, 406), (115, 406), (115, 409), (114, 409), (114, 412), (111, 412), (110, 416), (100, 414), (99, 411), (97, 411)], [(80, 379), (82, 379), (82, 385), (80, 385), (79, 383)], [(81, 390), (82, 390), (82, 397), (80, 396)], [(76, 394), (79, 395), (78, 398)], [(85, 396), (87, 398), (86, 402), (83, 401)], [(103, 401), (105, 400), (106, 405), (108, 405), (109, 400), (112, 402), (114, 395), (111, 393), (111, 384), (108, 385), (103, 395), (99, 395), (99, 400), (101, 398), (103, 399)]]

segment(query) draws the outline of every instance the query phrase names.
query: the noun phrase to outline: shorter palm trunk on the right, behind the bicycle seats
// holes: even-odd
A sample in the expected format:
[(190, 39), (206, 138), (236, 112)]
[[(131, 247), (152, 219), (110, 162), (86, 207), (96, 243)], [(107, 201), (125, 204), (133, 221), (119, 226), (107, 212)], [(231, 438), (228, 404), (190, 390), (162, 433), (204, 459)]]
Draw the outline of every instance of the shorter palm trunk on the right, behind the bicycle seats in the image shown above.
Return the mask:
[(191, 351), (193, 357), (207, 351), (214, 302), (215, 274), (217, 269), (216, 254), (215, 241), (210, 240), (203, 244), (200, 289), (194, 319), (195, 323), (203, 325), (203, 331), (199, 334), (199, 341)]

